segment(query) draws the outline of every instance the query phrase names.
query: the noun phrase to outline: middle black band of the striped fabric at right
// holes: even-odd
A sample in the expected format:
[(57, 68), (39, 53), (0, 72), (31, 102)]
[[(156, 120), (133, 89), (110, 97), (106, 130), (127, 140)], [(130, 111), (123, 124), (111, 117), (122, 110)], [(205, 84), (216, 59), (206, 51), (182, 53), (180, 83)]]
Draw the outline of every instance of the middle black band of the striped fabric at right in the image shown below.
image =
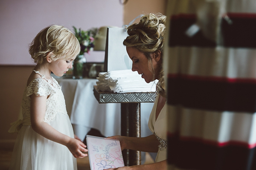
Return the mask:
[(212, 111), (256, 112), (256, 84), (168, 78), (169, 105)]

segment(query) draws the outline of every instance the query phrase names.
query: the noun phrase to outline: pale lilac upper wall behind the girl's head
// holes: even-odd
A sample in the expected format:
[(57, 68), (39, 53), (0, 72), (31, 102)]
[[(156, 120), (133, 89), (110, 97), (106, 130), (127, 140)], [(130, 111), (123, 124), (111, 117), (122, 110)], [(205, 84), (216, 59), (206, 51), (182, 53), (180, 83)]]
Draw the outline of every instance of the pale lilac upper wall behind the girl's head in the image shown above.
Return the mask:
[[(0, 65), (34, 65), (28, 45), (46, 26), (70, 30), (123, 25), (119, 0), (1, 0)], [(88, 62), (103, 62), (105, 52), (93, 51)]]

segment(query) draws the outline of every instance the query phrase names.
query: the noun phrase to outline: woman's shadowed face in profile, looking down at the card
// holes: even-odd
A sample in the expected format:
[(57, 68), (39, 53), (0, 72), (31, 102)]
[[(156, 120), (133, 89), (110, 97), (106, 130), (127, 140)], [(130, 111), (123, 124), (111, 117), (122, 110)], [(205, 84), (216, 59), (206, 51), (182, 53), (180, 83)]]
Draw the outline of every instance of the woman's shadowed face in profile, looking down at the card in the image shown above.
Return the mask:
[[(126, 47), (126, 51), (132, 60), (132, 69), (131, 70), (138, 71), (139, 74), (142, 74), (141, 77), (143, 79), (145, 79), (145, 82), (147, 82), (147, 83), (154, 81), (153, 74), (149, 70), (150, 65), (148, 62), (148, 58), (145, 56), (145, 54), (134, 47)], [(157, 62), (154, 59), (154, 57), (151, 56), (151, 58), (152, 58), (153, 68), (154, 68), (154, 70), (156, 70)], [(155, 76), (155, 79), (156, 78), (157, 77)]]

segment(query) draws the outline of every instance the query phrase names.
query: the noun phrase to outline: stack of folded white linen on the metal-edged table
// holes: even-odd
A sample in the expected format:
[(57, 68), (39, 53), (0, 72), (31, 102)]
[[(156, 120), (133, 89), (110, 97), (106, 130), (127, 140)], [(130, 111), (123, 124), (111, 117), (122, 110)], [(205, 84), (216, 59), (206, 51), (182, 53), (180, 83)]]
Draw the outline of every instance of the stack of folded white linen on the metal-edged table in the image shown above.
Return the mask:
[(99, 73), (96, 82), (100, 91), (115, 93), (155, 92), (158, 80), (147, 83), (137, 71), (118, 70)]

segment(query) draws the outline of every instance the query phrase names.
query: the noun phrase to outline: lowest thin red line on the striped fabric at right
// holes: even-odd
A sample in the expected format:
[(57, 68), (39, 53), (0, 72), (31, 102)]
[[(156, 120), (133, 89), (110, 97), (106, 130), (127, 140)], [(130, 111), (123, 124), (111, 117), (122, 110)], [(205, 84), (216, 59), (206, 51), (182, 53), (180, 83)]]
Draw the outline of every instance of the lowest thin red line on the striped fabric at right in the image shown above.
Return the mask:
[[(169, 133), (167, 132), (168, 137), (177, 137), (177, 133)], [(204, 144), (208, 144), (208, 145), (214, 145), (217, 147), (225, 147), (225, 146), (229, 146), (229, 145), (233, 145), (233, 146), (241, 146), (241, 147), (247, 147), (249, 149), (252, 149), (254, 147), (256, 147), (256, 143), (254, 144), (248, 144), (247, 142), (241, 142), (241, 141), (227, 141), (227, 142), (218, 142), (218, 141), (214, 141), (214, 140), (210, 140), (210, 139), (202, 139), (202, 138), (198, 138), (195, 136), (180, 136), (179, 140), (181, 141), (192, 141), (192, 142), (201, 142)]]

